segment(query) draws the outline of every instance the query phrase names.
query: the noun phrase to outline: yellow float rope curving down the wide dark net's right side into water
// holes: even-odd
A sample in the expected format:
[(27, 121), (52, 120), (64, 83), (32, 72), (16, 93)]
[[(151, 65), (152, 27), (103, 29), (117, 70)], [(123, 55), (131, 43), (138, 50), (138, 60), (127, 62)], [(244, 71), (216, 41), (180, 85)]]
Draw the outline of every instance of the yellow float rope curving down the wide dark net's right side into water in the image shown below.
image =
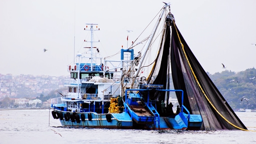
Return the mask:
[(186, 53), (185, 53), (184, 46), (183, 46), (183, 44), (181, 43), (180, 36), (179, 36), (179, 34), (178, 34), (178, 30), (177, 30), (177, 27), (176, 27), (174, 21), (173, 21), (173, 25), (174, 25), (175, 30), (176, 30), (176, 32), (177, 32), (177, 35), (178, 35), (180, 44), (181, 44), (181, 46), (182, 46), (182, 51), (183, 51), (183, 53), (184, 53), (184, 55), (185, 55), (186, 61), (188, 62), (188, 66), (190, 67), (190, 70), (191, 70), (191, 72), (192, 72), (192, 74), (193, 74), (193, 76), (194, 76), (194, 78), (195, 78), (195, 80), (196, 80), (196, 83), (198, 84), (199, 88), (201, 89), (201, 91), (202, 91), (202, 93), (204, 94), (204, 96), (205, 96), (205, 98), (207, 99), (207, 101), (211, 104), (212, 108), (220, 115), (220, 117), (222, 117), (226, 122), (228, 122), (230, 125), (234, 126), (235, 128), (238, 128), (239, 130), (243, 130), (243, 131), (256, 131), (256, 130), (245, 130), (245, 129), (243, 129), (243, 128), (240, 128), (240, 127), (234, 125), (233, 123), (229, 122), (222, 114), (220, 114), (220, 112), (214, 107), (214, 105), (212, 104), (212, 102), (209, 100), (209, 98), (208, 98), (208, 97), (206, 96), (206, 94), (204, 93), (203, 88), (201, 87), (200, 83), (198, 82), (198, 79), (196, 78), (196, 75), (194, 74), (194, 71), (193, 71), (193, 69), (192, 69), (192, 67), (191, 67), (191, 65), (190, 65), (190, 62), (188, 61), (188, 57), (187, 57), (187, 55), (186, 55)]

